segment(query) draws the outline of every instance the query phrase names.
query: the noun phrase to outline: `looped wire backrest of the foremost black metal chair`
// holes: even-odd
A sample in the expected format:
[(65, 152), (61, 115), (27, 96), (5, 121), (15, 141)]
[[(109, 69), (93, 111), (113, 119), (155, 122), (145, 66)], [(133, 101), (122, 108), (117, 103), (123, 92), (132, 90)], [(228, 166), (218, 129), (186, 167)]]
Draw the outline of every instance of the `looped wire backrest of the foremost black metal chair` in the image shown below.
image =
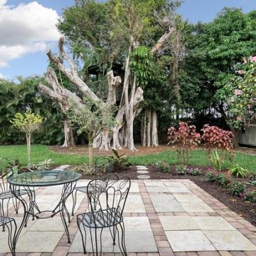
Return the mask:
[(131, 180), (110, 174), (105, 179), (94, 179), (87, 186), (91, 218), (105, 226), (113, 225), (122, 218)]

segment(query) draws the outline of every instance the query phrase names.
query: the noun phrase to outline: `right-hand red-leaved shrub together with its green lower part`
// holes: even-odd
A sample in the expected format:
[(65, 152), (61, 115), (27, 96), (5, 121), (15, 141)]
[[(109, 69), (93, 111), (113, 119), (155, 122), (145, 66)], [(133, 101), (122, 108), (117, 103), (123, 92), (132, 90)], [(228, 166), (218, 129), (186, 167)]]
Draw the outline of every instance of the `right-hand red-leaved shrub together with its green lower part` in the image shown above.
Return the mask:
[[(222, 164), (233, 148), (234, 134), (209, 124), (204, 125), (202, 132), (202, 140), (204, 140), (205, 148), (208, 149), (207, 159), (212, 167), (220, 172)], [(229, 157), (230, 161), (231, 156), (232, 154)]]

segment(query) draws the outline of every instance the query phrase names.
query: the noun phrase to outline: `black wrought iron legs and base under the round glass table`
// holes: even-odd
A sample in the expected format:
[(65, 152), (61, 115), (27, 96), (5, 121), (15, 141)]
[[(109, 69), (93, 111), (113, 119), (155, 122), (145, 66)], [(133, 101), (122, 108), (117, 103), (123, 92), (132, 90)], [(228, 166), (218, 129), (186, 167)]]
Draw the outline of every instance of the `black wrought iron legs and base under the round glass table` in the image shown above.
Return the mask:
[[(61, 191), (60, 202), (58, 202), (56, 207), (52, 211), (40, 211), (38, 205), (36, 204), (36, 195), (33, 187), (23, 186), (22, 189), (23, 191), (25, 189), (27, 191), (27, 194), (22, 195), (22, 193), (20, 193), (20, 191), (22, 191), (22, 189), (20, 189), (20, 186), (10, 185), (10, 190), (12, 191), (13, 195), (15, 196), (15, 198), (17, 198), (17, 200), (21, 202), (24, 208), (24, 216), (20, 224), (20, 227), (17, 230), (15, 238), (13, 240), (14, 243), (15, 244), (17, 243), (17, 239), (19, 238), (22, 228), (27, 226), (30, 215), (33, 217), (33, 220), (34, 220), (35, 218), (36, 219), (53, 218), (58, 213), (60, 213), (61, 221), (63, 223), (63, 227), (65, 228), (65, 233), (67, 234), (68, 243), (70, 243), (70, 234), (68, 232), (68, 223), (70, 223), (70, 214), (66, 207), (66, 201), (68, 196), (72, 195), (75, 187), (76, 187), (76, 181), (64, 184), (63, 189)], [(35, 213), (35, 210), (37, 211), (36, 213)], [(40, 216), (45, 212), (52, 212), (52, 214), (50, 216)], [(66, 220), (66, 214), (67, 214), (68, 223)]]

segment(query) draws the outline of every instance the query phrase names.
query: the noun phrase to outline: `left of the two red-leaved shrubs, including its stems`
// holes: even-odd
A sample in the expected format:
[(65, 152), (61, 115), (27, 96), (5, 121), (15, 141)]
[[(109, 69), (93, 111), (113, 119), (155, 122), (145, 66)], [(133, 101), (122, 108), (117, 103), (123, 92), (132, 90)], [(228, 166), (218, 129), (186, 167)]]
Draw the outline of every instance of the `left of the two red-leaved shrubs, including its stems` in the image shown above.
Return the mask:
[(188, 125), (187, 123), (180, 123), (179, 129), (174, 127), (168, 129), (168, 145), (178, 144), (177, 156), (180, 164), (188, 165), (189, 150), (193, 150), (201, 143), (201, 136), (196, 132), (195, 125)]

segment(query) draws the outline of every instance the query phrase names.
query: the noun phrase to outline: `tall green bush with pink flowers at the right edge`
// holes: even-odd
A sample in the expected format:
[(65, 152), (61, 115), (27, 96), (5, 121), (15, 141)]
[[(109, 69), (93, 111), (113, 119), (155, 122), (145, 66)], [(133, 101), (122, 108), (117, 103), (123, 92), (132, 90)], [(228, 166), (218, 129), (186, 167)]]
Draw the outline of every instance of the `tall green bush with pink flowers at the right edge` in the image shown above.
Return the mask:
[(234, 69), (218, 95), (227, 104), (228, 123), (234, 127), (249, 125), (256, 111), (256, 56), (244, 58)]

